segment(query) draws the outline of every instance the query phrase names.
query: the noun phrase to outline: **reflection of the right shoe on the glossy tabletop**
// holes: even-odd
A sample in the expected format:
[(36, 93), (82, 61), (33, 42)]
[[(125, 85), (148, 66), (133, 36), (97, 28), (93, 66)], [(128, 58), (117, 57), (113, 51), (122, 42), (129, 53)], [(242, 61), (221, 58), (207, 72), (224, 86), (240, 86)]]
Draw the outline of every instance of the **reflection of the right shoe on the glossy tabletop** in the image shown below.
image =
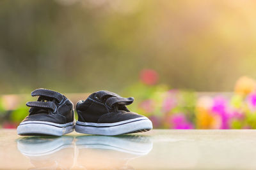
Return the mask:
[(77, 165), (85, 169), (133, 169), (131, 159), (147, 155), (152, 141), (147, 136), (79, 136)]

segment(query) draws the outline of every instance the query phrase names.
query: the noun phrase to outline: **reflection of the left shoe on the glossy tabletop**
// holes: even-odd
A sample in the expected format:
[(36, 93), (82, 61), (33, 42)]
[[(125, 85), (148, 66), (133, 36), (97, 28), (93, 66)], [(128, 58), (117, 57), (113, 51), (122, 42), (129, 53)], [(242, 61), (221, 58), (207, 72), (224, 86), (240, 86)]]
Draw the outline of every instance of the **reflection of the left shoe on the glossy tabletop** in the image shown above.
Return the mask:
[(71, 169), (74, 166), (74, 137), (28, 137), (17, 141), (20, 153), (29, 158), (31, 169)]

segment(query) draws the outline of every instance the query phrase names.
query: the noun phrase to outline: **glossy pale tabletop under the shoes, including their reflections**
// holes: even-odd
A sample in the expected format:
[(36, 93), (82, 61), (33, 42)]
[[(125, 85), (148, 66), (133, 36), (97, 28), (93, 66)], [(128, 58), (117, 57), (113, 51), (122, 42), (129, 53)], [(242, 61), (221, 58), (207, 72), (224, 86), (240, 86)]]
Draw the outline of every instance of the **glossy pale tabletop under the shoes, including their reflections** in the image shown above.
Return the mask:
[(0, 169), (256, 169), (255, 130), (72, 132), (21, 137), (0, 130)]

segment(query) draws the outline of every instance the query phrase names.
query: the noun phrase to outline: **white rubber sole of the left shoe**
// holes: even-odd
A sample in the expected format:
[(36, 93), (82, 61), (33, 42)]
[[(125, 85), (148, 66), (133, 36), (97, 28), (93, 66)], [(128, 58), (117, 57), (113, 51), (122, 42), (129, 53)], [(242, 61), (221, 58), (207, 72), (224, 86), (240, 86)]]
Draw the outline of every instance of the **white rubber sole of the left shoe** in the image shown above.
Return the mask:
[(44, 121), (22, 122), (17, 127), (17, 133), (22, 136), (52, 135), (62, 136), (74, 131), (74, 122), (67, 124), (54, 124)]

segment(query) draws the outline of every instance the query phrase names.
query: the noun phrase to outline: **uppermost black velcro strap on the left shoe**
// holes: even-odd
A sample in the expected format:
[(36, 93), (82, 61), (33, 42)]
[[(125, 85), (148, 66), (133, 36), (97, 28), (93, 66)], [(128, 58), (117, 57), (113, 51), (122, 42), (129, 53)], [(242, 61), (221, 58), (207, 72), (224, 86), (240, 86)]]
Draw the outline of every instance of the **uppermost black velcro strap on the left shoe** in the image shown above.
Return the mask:
[(33, 92), (31, 92), (31, 96), (45, 96), (45, 97), (52, 97), (58, 101), (58, 103), (61, 103), (63, 100), (63, 95), (47, 89), (36, 89)]

